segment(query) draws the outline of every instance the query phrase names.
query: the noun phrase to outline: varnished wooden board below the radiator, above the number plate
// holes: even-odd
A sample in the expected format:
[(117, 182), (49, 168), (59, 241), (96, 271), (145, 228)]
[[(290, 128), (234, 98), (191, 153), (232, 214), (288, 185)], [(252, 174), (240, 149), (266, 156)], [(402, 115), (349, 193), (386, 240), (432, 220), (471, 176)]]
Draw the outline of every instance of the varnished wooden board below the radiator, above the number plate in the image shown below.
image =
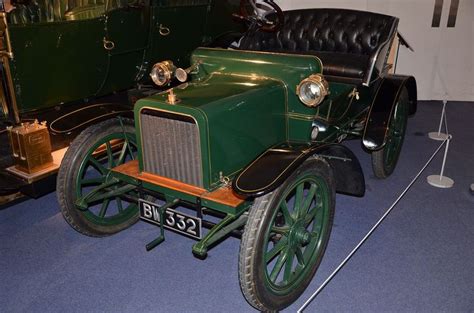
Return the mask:
[(184, 184), (174, 179), (169, 179), (159, 175), (154, 175), (146, 172), (140, 173), (138, 170), (138, 161), (130, 161), (128, 163), (119, 165), (112, 169), (114, 172), (118, 172), (135, 179), (145, 181), (154, 185), (159, 185), (168, 189), (180, 191), (193, 196), (199, 196), (203, 199), (221, 203), (230, 207), (237, 207), (242, 204), (245, 199), (235, 194), (231, 187), (221, 187), (212, 192), (208, 192), (206, 189), (202, 189), (196, 186)]

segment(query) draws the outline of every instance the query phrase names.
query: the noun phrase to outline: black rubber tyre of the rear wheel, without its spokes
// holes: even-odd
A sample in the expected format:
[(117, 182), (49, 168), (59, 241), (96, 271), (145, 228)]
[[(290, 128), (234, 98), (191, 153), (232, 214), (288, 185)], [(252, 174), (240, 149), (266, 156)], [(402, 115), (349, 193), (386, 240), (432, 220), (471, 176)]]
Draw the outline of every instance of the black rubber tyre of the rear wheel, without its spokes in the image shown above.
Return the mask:
[[(403, 141), (405, 137), (407, 120), (408, 120), (408, 105), (409, 105), (408, 90), (405, 87), (403, 87), (403, 90), (400, 93), (399, 99), (397, 100), (397, 106), (399, 105), (405, 106), (404, 112), (406, 112), (406, 114), (404, 114), (403, 116), (403, 119), (404, 119), (403, 121), (404, 128), (402, 130), (403, 134), (402, 134), (400, 146), (398, 150), (395, 152), (394, 161), (392, 162), (392, 164), (388, 164), (386, 160), (385, 150), (387, 146), (383, 147), (380, 150), (373, 151), (371, 154), (372, 155), (372, 170), (374, 172), (375, 177), (380, 178), (380, 179), (387, 178), (393, 173), (398, 163), (400, 151), (402, 150), (402, 147), (403, 147)], [(390, 118), (392, 119), (393, 116), (391, 116)]]

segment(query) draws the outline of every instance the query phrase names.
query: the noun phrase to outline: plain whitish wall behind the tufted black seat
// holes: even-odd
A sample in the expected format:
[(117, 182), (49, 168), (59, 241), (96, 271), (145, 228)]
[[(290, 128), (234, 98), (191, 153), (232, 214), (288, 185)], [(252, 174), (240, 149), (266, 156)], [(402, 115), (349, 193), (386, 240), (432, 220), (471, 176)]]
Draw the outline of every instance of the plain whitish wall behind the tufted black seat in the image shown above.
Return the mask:
[(414, 75), (419, 99), (474, 101), (474, 0), (459, 0), (454, 28), (447, 28), (452, 0), (443, 1), (441, 24), (432, 28), (435, 0), (276, 0), (282, 9), (331, 7), (368, 10), (400, 18), (399, 31), (415, 52), (400, 49), (397, 73)]

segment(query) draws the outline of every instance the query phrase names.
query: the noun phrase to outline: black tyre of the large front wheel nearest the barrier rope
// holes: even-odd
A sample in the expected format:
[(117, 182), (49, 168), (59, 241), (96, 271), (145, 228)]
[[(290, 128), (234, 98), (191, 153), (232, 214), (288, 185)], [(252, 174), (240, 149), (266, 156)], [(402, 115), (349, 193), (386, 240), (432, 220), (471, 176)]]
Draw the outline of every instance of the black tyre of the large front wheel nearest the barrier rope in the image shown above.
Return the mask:
[[(265, 287), (262, 278), (263, 273), (259, 266), (263, 257), (263, 251), (261, 249), (264, 240), (263, 233), (270, 222), (275, 206), (279, 203), (280, 197), (285, 193), (286, 188), (291, 186), (300, 174), (308, 171), (322, 177), (327, 186), (329, 186), (329, 227), (325, 235), (325, 240), (321, 244), (321, 252), (317, 257), (317, 261), (314, 266), (309, 269), (309, 273), (304, 277), (302, 282), (284, 296), (275, 295)], [(334, 219), (335, 194), (335, 182), (330, 166), (324, 160), (309, 159), (278, 189), (255, 199), (254, 204), (250, 208), (249, 218), (245, 225), (239, 253), (240, 288), (247, 302), (254, 308), (264, 312), (274, 312), (284, 309), (292, 304), (309, 285), (319, 267), (329, 241), (329, 234)]]

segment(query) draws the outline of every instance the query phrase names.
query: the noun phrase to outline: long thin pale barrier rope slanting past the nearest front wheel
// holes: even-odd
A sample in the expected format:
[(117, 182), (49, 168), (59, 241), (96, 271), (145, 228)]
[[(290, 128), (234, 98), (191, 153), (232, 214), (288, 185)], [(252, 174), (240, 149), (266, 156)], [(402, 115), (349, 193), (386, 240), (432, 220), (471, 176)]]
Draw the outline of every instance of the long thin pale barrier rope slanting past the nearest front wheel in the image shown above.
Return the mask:
[(416, 180), (420, 177), (420, 175), (423, 173), (423, 171), (428, 167), (428, 165), (433, 161), (434, 157), (438, 154), (439, 150), (443, 147), (444, 143), (447, 142), (448, 139), (445, 139), (439, 147), (436, 149), (436, 151), (433, 153), (433, 155), (429, 158), (429, 160), (426, 162), (426, 164), (423, 166), (423, 168), (418, 172), (418, 174), (413, 178), (413, 180), (408, 184), (408, 186), (403, 190), (403, 192), (400, 194), (400, 196), (393, 202), (393, 204), (388, 208), (388, 210), (385, 212), (384, 215), (375, 223), (375, 225), (369, 230), (369, 232), (362, 238), (362, 240), (357, 244), (357, 246), (352, 249), (352, 251), (347, 255), (347, 257), (339, 264), (339, 266), (329, 275), (329, 277), (319, 286), (319, 288), (309, 297), (308, 300), (301, 306), (301, 308), (298, 309), (298, 313), (303, 312), (303, 310), (316, 298), (316, 296), (321, 293), (321, 291), (326, 287), (326, 285), (336, 276), (336, 274), (341, 270), (341, 268), (346, 265), (346, 263), (349, 261), (349, 259), (359, 250), (359, 248), (364, 244), (364, 242), (372, 235), (372, 233), (377, 229), (377, 227), (383, 222), (383, 220), (390, 214), (390, 212), (393, 210), (395, 205), (403, 198), (403, 196), (408, 192), (408, 190), (411, 188), (411, 186), (416, 182)]

